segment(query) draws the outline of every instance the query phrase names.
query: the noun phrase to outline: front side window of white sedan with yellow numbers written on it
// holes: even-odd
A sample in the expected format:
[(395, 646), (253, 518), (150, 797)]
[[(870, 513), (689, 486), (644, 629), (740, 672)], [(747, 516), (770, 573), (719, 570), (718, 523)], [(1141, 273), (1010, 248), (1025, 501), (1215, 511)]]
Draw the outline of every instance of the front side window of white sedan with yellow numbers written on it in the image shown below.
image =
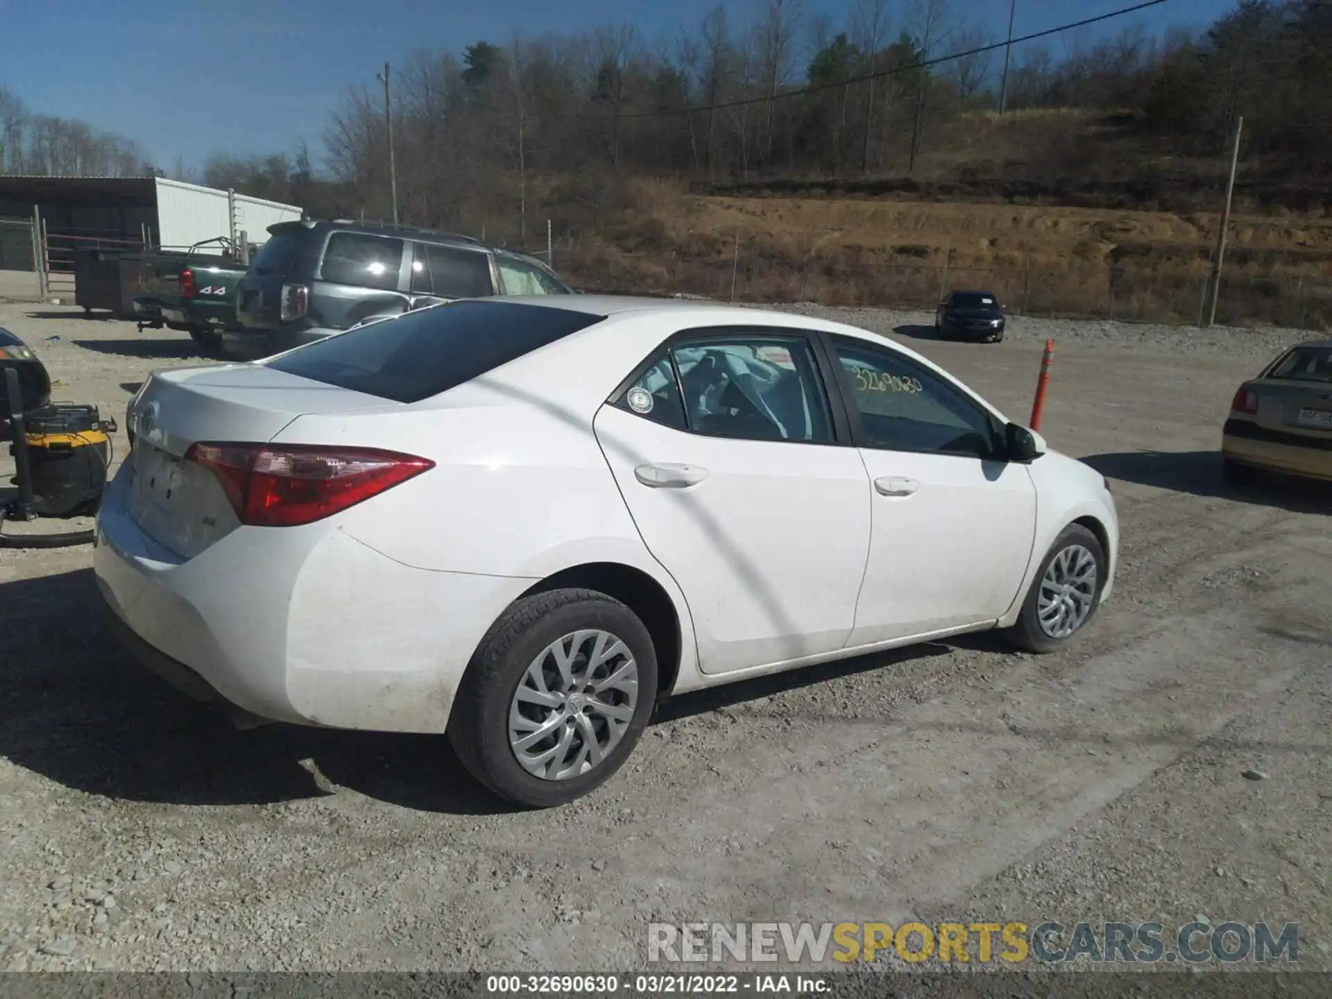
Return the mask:
[(890, 350), (834, 337), (866, 445), (895, 452), (998, 458), (995, 421), (926, 368)]

